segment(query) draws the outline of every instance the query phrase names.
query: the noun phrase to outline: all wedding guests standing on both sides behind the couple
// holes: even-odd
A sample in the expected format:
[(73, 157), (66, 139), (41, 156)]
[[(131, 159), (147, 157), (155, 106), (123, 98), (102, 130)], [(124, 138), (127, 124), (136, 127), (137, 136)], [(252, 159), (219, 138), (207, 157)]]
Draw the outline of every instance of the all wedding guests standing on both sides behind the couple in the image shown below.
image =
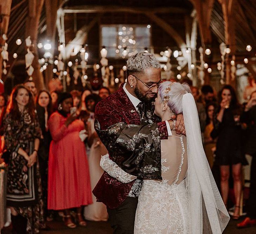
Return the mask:
[[(53, 220), (54, 210), (69, 228), (86, 226), (85, 219), (108, 219), (105, 205), (96, 202), (91, 190), (103, 173), (101, 155), (107, 153), (94, 130), (94, 111), (110, 90), (67, 93), (58, 79), (50, 81), (48, 88), (50, 92), (38, 91), (33, 80), (26, 80), (13, 88), (8, 102), (0, 94), (0, 146), (7, 155), (6, 200), (14, 233), (47, 228), (45, 220)], [(245, 154), (252, 156), (251, 168), (256, 166), (256, 89), (247, 87), (248, 102), (242, 104), (230, 85), (223, 86), (218, 95), (210, 85), (200, 90), (191, 86), (191, 91), (210, 168), (217, 172), (213, 174), (224, 204), (233, 206), (232, 217), (239, 219)], [(256, 225), (255, 201), (256, 172), (252, 169), (248, 217), (238, 227)]]

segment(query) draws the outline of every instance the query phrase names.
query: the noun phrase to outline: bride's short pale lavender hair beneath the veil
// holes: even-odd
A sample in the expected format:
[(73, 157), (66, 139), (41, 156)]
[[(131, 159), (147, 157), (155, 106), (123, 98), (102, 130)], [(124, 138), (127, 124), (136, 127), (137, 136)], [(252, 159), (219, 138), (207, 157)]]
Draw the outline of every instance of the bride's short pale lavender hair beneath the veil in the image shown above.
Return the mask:
[[(166, 88), (171, 85), (170, 91), (166, 93)], [(169, 98), (167, 100), (167, 104), (169, 108), (175, 114), (180, 114), (183, 112), (182, 110), (182, 96), (186, 93), (191, 93), (190, 87), (186, 83), (178, 83), (178, 82), (170, 82), (165, 81), (159, 85), (158, 95), (162, 101), (164, 101), (164, 97), (167, 95)]]

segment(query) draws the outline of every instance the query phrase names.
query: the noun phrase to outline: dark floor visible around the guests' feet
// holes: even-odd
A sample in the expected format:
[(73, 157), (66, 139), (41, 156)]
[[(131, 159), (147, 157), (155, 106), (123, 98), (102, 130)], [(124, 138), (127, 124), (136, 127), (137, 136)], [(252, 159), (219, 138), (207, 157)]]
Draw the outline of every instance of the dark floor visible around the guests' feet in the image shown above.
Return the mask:
[[(242, 219), (240, 220), (242, 221)], [(239, 221), (230, 220), (228, 227), (224, 230), (224, 234), (256, 234), (256, 227), (249, 227), (244, 229), (237, 229), (236, 224)], [(92, 222), (87, 221), (87, 227), (77, 227), (74, 229), (67, 228), (61, 221), (47, 222), (47, 225), (51, 228), (48, 231), (41, 231), (42, 234), (110, 234), (112, 229), (109, 222)], [(11, 234), (11, 227), (5, 228), (1, 232), (2, 234)]]

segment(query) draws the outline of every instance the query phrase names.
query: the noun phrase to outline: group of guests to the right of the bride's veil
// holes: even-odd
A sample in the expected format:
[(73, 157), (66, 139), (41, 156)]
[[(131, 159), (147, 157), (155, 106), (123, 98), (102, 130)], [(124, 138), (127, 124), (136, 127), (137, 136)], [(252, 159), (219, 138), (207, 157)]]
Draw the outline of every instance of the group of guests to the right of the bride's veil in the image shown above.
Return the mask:
[[(230, 85), (224, 85), (218, 94), (209, 85), (202, 86), (201, 91), (191, 86), (205, 154), (224, 204), (231, 207), (230, 214), (235, 220), (240, 218), (241, 208), (247, 212), (247, 217), (237, 224), (238, 228), (256, 225), (256, 89), (252, 79), (249, 76), (249, 85), (244, 91), (247, 102), (244, 103), (238, 103), (235, 90)], [(249, 199), (243, 203), (242, 166), (248, 165), (245, 154), (252, 156), (252, 162)], [(233, 188), (232, 193), (230, 187)]]

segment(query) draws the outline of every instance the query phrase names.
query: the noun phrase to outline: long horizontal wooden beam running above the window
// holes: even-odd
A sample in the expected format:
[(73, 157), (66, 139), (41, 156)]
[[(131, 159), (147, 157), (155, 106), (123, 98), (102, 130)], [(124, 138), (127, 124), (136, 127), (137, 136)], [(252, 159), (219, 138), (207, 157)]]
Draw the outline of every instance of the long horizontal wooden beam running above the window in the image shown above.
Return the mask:
[(129, 12), (135, 14), (147, 13), (184, 13), (187, 14), (189, 11), (181, 7), (158, 7), (158, 8), (148, 8), (148, 7), (120, 7), (116, 5), (112, 6), (73, 6), (64, 8), (64, 13), (109, 13), (109, 12)]

